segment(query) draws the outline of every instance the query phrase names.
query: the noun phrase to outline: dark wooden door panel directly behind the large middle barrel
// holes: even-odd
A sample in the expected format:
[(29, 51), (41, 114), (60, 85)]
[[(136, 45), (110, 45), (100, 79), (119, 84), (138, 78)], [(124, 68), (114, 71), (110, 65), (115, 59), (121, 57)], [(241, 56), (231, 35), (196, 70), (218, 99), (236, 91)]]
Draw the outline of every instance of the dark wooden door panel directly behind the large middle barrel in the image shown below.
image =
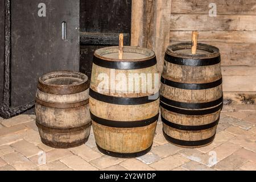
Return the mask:
[(80, 71), (90, 76), (94, 51), (118, 45), (121, 32), (130, 45), (131, 0), (81, 0)]

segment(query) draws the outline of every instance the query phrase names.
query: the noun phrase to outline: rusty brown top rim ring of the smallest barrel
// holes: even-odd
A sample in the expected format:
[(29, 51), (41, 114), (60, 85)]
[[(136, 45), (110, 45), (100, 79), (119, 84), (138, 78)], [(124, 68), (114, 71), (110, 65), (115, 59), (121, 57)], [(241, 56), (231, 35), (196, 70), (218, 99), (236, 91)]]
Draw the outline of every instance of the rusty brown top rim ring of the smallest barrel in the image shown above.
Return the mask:
[[(69, 76), (67, 76), (69, 75)], [(49, 84), (46, 80), (56, 77), (73, 77), (79, 78), (81, 81), (69, 85), (60, 85), (60, 84)], [(54, 71), (46, 73), (39, 77), (38, 79), (38, 89), (42, 92), (49, 94), (75, 94), (80, 93), (88, 89), (90, 86), (89, 77), (84, 73), (76, 71)]]

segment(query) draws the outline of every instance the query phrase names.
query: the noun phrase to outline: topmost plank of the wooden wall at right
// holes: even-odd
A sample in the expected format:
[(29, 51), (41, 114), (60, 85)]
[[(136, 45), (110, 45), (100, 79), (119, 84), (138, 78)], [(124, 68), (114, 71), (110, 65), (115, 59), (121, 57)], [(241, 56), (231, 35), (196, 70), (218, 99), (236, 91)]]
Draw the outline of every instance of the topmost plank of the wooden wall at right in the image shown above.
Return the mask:
[(209, 4), (216, 3), (217, 14), (256, 15), (254, 0), (172, 0), (172, 13), (208, 14)]

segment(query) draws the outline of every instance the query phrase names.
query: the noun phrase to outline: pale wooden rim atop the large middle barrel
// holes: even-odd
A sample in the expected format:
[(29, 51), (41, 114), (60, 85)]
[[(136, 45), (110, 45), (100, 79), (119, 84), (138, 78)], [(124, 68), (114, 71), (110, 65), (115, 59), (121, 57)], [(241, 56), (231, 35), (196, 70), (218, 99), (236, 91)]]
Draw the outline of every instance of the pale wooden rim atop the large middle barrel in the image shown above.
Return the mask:
[[(138, 53), (138, 54), (141, 54), (141, 55), (145, 55), (143, 53), (136, 52), (136, 50), (137, 50), (137, 51), (148, 52), (150, 55), (145, 55), (147, 57), (138, 58), (138, 59), (113, 59), (113, 58), (104, 57), (104, 55), (101, 55), (101, 51), (108, 51), (108, 50), (111, 50), (111, 49), (114, 49), (115, 52), (118, 52), (118, 46), (110, 46), (110, 47), (104, 47), (104, 48), (97, 49), (94, 52), (94, 56), (98, 57), (99, 59), (102, 59), (102, 60), (113, 61), (113, 62), (139, 62), (139, 61), (147, 61), (147, 60), (150, 60), (150, 59), (154, 59), (154, 57), (155, 57), (155, 52), (153, 50), (138, 47), (138, 46), (123, 46), (123, 52), (127, 52), (127, 49), (134, 49), (134, 52), (131, 52), (131, 53)], [(115, 52), (112, 52), (112, 53), (115, 53)]]

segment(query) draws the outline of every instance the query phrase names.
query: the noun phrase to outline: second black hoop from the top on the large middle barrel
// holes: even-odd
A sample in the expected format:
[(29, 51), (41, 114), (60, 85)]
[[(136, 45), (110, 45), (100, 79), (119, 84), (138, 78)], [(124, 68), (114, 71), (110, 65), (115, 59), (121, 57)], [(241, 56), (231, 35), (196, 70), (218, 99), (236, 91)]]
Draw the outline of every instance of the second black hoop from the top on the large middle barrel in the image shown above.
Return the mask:
[[(158, 94), (159, 95), (159, 94)], [(144, 96), (144, 97), (114, 97), (114, 96), (107, 96), (105, 94), (101, 94), (98, 92), (95, 92), (94, 90), (89, 90), (89, 96), (101, 101), (106, 102), (109, 104), (117, 104), (117, 105), (140, 105), (140, 104), (147, 104), (150, 102), (154, 102), (158, 100), (156, 99), (149, 99), (150, 96)]]

